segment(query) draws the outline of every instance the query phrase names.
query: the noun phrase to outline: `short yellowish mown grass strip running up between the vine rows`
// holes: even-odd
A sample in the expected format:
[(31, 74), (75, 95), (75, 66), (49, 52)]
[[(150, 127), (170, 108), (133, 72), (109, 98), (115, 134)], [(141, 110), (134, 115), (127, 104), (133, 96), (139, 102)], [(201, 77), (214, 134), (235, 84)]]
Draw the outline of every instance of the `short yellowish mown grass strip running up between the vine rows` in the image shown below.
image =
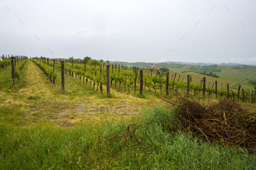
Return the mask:
[[(27, 61), (18, 85), (12, 85), (11, 68), (0, 72), (0, 121), (7, 124), (30, 125), (48, 120), (61, 126), (133, 117), (147, 107), (165, 104), (158, 98), (138, 98), (112, 90), (114, 98), (106, 98), (89, 84), (65, 76), (65, 93), (61, 93), (61, 73), (56, 85), (32, 61)], [(11, 114), (10, 114), (11, 113)], [(7, 116), (8, 115), (8, 116)]]

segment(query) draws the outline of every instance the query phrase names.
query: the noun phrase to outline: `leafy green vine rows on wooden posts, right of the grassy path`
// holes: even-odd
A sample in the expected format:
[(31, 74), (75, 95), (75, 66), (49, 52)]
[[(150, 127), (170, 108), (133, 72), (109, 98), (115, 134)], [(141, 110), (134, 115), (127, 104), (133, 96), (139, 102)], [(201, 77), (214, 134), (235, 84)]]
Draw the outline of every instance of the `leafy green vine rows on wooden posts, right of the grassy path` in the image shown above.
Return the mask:
[[(57, 74), (55, 69), (61, 70), (61, 59), (50, 58), (33, 58), (34, 63), (42, 69), (43, 72), (50, 78), (50, 81), (55, 82)], [(93, 63), (85, 62), (78, 63), (72, 61), (72, 63), (64, 61), (64, 73), (72, 76), (82, 83), (89, 84), (90, 87), (96, 88), (103, 93), (103, 87), (107, 85), (107, 64), (106, 63)], [(192, 82), (192, 76), (187, 77), (176, 76), (176, 73), (166, 73), (150, 70), (142, 70), (143, 76), (139, 74), (139, 68), (133, 67), (132, 70), (127, 67), (108, 64), (110, 73), (110, 88), (124, 93), (139, 93), (144, 90), (148, 93), (155, 94), (157, 96), (169, 96), (170, 93), (176, 93), (180, 96), (209, 96), (215, 98), (232, 98), (234, 100), (241, 100), (254, 103), (256, 95), (254, 91), (249, 92), (244, 90), (241, 85), (235, 85), (231, 88), (230, 85), (225, 84), (218, 85), (218, 82), (207, 82), (204, 77), (200, 82)], [(142, 80), (143, 85), (139, 85)], [(142, 87), (138, 87), (142, 86)], [(220, 87), (220, 88), (219, 88)], [(143, 96), (143, 93), (139, 94)]]

